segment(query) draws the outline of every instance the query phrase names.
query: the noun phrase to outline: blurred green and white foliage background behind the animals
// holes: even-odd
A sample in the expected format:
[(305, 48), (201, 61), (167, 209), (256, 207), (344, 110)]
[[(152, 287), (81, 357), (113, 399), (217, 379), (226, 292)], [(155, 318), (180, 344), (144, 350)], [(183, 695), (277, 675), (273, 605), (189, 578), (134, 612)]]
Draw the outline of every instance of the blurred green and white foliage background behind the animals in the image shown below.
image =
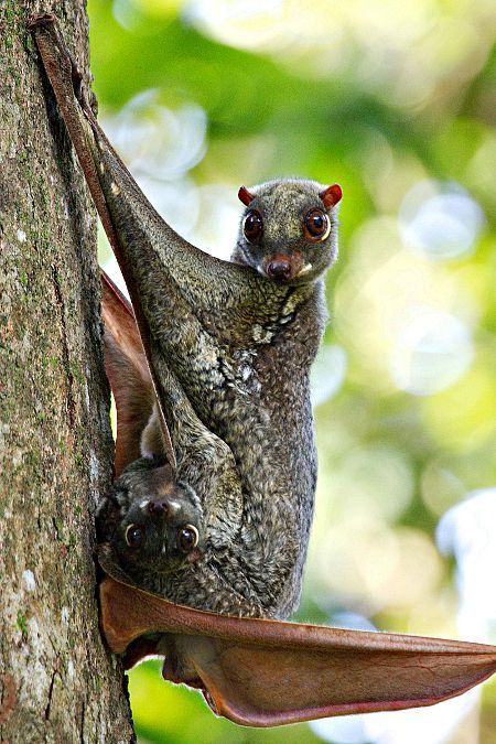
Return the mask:
[[(89, 0), (100, 118), (185, 237), (227, 258), (237, 190), (338, 182), (313, 375), (300, 621), (496, 643), (489, 0)], [(101, 240), (101, 262), (114, 271)], [(496, 683), (431, 709), (255, 731), (148, 662), (141, 742), (493, 744)]]

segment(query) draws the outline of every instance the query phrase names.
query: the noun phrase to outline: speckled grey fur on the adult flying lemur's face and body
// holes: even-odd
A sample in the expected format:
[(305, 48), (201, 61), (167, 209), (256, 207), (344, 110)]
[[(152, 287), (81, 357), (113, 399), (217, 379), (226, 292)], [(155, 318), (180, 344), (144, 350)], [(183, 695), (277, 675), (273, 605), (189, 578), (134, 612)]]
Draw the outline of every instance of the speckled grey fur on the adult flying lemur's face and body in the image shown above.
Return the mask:
[[(309, 370), (325, 322), (320, 277), (336, 257), (335, 209), (330, 237), (309, 245), (302, 218), (322, 208), (323, 186), (258, 186), (250, 207), (265, 218), (263, 240), (255, 250), (240, 230), (236, 263), (220, 261), (177, 236), (95, 136), (125, 279), (150, 328), (177, 477), (204, 511), (203, 557), (174, 581), (155, 573), (142, 585), (195, 607), (285, 617), (300, 597), (313, 515)], [(304, 254), (311, 270), (289, 284), (270, 281), (259, 262), (278, 251)]]

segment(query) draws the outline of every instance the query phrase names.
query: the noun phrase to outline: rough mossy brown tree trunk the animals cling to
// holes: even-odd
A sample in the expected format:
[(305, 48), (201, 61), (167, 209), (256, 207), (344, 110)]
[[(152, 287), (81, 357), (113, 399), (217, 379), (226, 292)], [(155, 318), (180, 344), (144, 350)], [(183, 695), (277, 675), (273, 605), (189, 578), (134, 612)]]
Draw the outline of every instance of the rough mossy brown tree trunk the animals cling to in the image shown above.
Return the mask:
[[(53, 9), (87, 67), (83, 0)], [(0, 742), (129, 742), (95, 599), (111, 435), (96, 218), (25, 31), (0, 9)]]

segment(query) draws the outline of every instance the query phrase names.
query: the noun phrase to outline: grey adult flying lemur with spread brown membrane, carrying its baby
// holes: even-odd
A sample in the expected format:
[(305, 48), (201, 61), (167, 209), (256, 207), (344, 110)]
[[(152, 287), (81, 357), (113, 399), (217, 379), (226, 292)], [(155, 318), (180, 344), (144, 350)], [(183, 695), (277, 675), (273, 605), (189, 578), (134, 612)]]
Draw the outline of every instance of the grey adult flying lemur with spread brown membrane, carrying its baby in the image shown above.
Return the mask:
[[(305, 544), (300, 548), (295, 538), (300, 536), (304, 541), (310, 521), (312, 467), (309, 468), (310, 478), (303, 488), (296, 488), (295, 497), (291, 500), (283, 496), (284, 487), (294, 481), (298, 466), (312, 461), (312, 448), (309, 450), (308, 443), (301, 443), (303, 456), (292, 449), (294, 421), (290, 421), (292, 436), (288, 442), (281, 441), (274, 409), (280, 406), (284, 414), (291, 417), (293, 409), (287, 410), (285, 406), (288, 401), (295, 401), (295, 413), (303, 417), (304, 425), (310, 424), (310, 411), (302, 400), (306, 395), (309, 357), (314, 353), (322, 322), (319, 282), (312, 285), (313, 276), (320, 271), (320, 254), (311, 254), (301, 233), (298, 236), (294, 233), (294, 242), (285, 245), (282, 255), (280, 242), (270, 244), (270, 248), (269, 242), (260, 242), (258, 248), (268, 247), (260, 254), (251, 249), (258, 239), (261, 240), (263, 230), (267, 230), (266, 238), (270, 235), (270, 215), (266, 214), (267, 202), (261, 197), (270, 200), (273, 184), (266, 193), (260, 190), (260, 193), (249, 194), (241, 190), (240, 196), (250, 207), (244, 220), (244, 235), (249, 246), (241, 237), (235, 255), (236, 260), (249, 263), (260, 276), (271, 277), (272, 287), (251, 269), (227, 269), (226, 265), (204, 257), (173, 234), (169, 235), (170, 228), (158, 223), (157, 215), (142, 202), (142, 196), (132, 194), (132, 182), (108, 149), (89, 109), (87, 116), (95, 133), (85, 128), (86, 122), (73, 95), (73, 85), (79, 88), (78, 76), (54, 28), (54, 18), (35, 17), (31, 28), (84, 164), (93, 197), (123, 268), (127, 262), (122, 257), (129, 255), (131, 260), (133, 242), (148, 239), (138, 219), (140, 211), (148, 233), (151, 230), (154, 235), (157, 228), (164, 240), (162, 250), (152, 235), (153, 240), (145, 246), (147, 266), (134, 257), (127, 276), (145, 354), (131, 308), (104, 277), (106, 369), (119, 411), (116, 446), (119, 477), (100, 513), (101, 538), (106, 544), (99, 560), (107, 573), (100, 585), (101, 627), (110, 648), (116, 653), (126, 651), (128, 665), (149, 654), (165, 655), (163, 675), (166, 679), (201, 689), (217, 713), (237, 723), (260, 726), (323, 715), (429, 705), (460, 694), (489, 677), (496, 670), (496, 649), (492, 646), (228, 617), (180, 606), (150, 594), (150, 591), (158, 591), (169, 596), (171, 585), (166, 586), (163, 576), (176, 571), (181, 572), (179, 585), (187, 596), (186, 602), (197, 606), (214, 607), (218, 599), (217, 608), (224, 612), (283, 614), (298, 596)], [(101, 153), (107, 153), (107, 165), (104, 163), (101, 175), (110, 164), (119, 176), (105, 186), (107, 191), (100, 185), (98, 175)], [(132, 198), (129, 224), (121, 230), (119, 220), (126, 222), (126, 216), (119, 204), (110, 203), (107, 194), (118, 197), (122, 186), (131, 192)], [(292, 191), (298, 192), (298, 188)], [(312, 211), (322, 212), (317, 198), (327, 209), (325, 197), (337, 201), (339, 191), (334, 186), (323, 190), (324, 194), (319, 196), (312, 186), (311, 192), (309, 197), (314, 201), (301, 205), (299, 225), (301, 228), (304, 223), (311, 235), (316, 231), (322, 237), (327, 229), (332, 231), (334, 215), (327, 212), (312, 216)], [(274, 193), (278, 190), (272, 190)], [(259, 202), (252, 196), (260, 196)], [(299, 200), (298, 194), (294, 198)], [(304, 213), (303, 206), (308, 206)], [(115, 212), (110, 212), (110, 207)], [(258, 214), (254, 214), (255, 211)], [(327, 237), (322, 237), (322, 241)], [(175, 255), (174, 246), (179, 255)], [(332, 248), (332, 244), (328, 246)], [(333, 258), (333, 249), (331, 252)], [(176, 355), (171, 360), (171, 369), (168, 367), (163, 348), (173, 344), (172, 332), (168, 331), (166, 323), (154, 324), (158, 314), (163, 314), (160, 292), (150, 289), (142, 303), (137, 291), (138, 285), (147, 290), (150, 269), (162, 270), (164, 256), (166, 276), (162, 288), (179, 303), (177, 311), (172, 313), (173, 322), (177, 323), (177, 315), (184, 312), (186, 331), (200, 334), (197, 338), (187, 333), (184, 337), (190, 351), (197, 346), (198, 353), (203, 353), (200, 367), (188, 368), (187, 355), (184, 358)], [(205, 306), (203, 283), (209, 272), (215, 279), (212, 313)], [(174, 283), (176, 280), (177, 284)], [(261, 306), (262, 302), (260, 306), (252, 302), (254, 293), (259, 296), (263, 292), (267, 292), (267, 308)], [(162, 299), (165, 309), (172, 300)], [(316, 323), (315, 317), (319, 319)], [(306, 354), (301, 348), (304, 327), (315, 330)], [(175, 330), (181, 333), (183, 326), (180, 324)], [(236, 331), (236, 335), (230, 337), (230, 331)], [(290, 348), (303, 359), (303, 375), (293, 359), (288, 358), (281, 339), (289, 339)], [(274, 380), (278, 374), (287, 379), (285, 368), (278, 366), (282, 363), (290, 367), (290, 374), (295, 375), (300, 386), (296, 391), (290, 385), (282, 389), (278, 387), (279, 382)], [(233, 407), (227, 429), (235, 440), (239, 431), (244, 431), (239, 419), (239, 411), (244, 410), (242, 386), (252, 386), (259, 410), (254, 412), (252, 407), (247, 407), (246, 412), (252, 417), (249, 420), (252, 431), (249, 433), (250, 443), (257, 445), (254, 463), (263, 466), (259, 472), (263, 474), (265, 483), (277, 486), (268, 488), (267, 502), (260, 499), (259, 472), (251, 474), (242, 452), (226, 444), (206, 427), (202, 418), (205, 407), (198, 406), (196, 400), (198, 384), (205, 386), (208, 401), (223, 405), (224, 410)], [(192, 391), (202, 417), (186, 396), (186, 389)], [(171, 424), (172, 443), (164, 411)], [(214, 413), (211, 413), (213, 420)], [(145, 444), (152, 451), (160, 451), (161, 455), (147, 461), (140, 460), (139, 455), (142, 433), (150, 419), (150, 427), (155, 431), (147, 438)], [(269, 431), (270, 423), (273, 432)], [(270, 462), (260, 454), (265, 452), (267, 441), (270, 445), (282, 444), (281, 451), (269, 451)], [(268, 465), (270, 467), (263, 470)], [(284, 468), (289, 470), (289, 478), (284, 477)], [(183, 483), (180, 472), (191, 475), (193, 481), (196, 473), (196, 482)], [(302, 478), (305, 473), (301, 473)], [(143, 527), (145, 532), (151, 530), (149, 544), (148, 537), (143, 541), (142, 533), (139, 535)], [(294, 549), (292, 557), (284, 552), (287, 535)], [(161, 552), (165, 547), (165, 560), (157, 556), (153, 547), (157, 539)], [(150, 547), (151, 557), (148, 557)], [(137, 551), (134, 557), (128, 554), (128, 549)], [(149, 567), (145, 575), (140, 568), (138, 573), (134, 571), (134, 564), (143, 557)], [(129, 579), (130, 573), (134, 573), (136, 581)], [(136, 583), (141, 583), (148, 591), (138, 589)], [(166, 591), (162, 591), (164, 589)]]

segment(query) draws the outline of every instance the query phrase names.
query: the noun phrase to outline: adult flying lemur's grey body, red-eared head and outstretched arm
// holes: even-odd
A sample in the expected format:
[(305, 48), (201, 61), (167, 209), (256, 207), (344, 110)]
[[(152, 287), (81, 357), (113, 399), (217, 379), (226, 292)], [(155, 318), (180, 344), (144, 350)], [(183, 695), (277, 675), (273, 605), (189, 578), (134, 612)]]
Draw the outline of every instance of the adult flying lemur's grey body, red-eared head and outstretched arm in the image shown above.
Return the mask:
[(155, 407), (141, 448), (155, 460), (151, 467), (139, 461), (116, 481), (100, 508), (103, 531), (122, 532), (137, 499), (151, 525), (153, 462), (168, 454), (165, 421), (171, 498), (190, 508), (185, 526), (198, 531), (202, 549), (186, 550), (174, 570), (168, 550), (164, 559), (153, 552), (148, 571), (121, 556), (125, 568), (136, 583), (176, 603), (285, 617), (299, 601), (313, 515), (309, 371), (325, 322), (323, 273), (337, 255), (341, 188), (296, 179), (241, 187), (233, 262), (203, 252), (157, 214), (108, 142), (56, 26), (40, 29), (37, 21), (37, 29), (153, 382)]

